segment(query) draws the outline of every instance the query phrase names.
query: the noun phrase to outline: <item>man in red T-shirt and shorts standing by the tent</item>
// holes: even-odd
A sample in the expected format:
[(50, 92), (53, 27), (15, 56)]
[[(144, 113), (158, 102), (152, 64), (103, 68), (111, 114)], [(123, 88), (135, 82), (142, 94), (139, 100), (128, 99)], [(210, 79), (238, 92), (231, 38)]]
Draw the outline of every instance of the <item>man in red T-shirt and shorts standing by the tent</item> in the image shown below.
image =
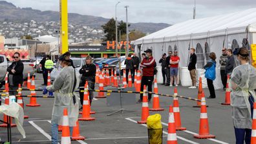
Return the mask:
[(169, 87), (173, 87), (173, 80), (175, 79), (175, 86), (178, 87), (178, 63), (180, 62), (180, 57), (177, 56), (178, 52), (174, 51), (173, 56), (170, 58), (171, 64), (171, 83)]

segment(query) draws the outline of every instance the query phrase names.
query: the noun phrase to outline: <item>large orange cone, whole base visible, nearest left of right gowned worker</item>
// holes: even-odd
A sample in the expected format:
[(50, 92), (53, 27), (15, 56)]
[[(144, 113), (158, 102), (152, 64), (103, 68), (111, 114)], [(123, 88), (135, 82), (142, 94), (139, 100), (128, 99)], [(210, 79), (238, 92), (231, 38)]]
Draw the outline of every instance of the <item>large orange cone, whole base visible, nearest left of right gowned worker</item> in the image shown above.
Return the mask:
[(206, 98), (204, 98), (204, 92), (202, 92), (202, 99), (201, 99), (199, 134), (195, 134), (194, 138), (198, 138), (198, 139), (215, 138), (214, 135), (209, 134), (209, 123), (208, 123), (208, 116), (207, 116), (207, 109), (206, 109)]

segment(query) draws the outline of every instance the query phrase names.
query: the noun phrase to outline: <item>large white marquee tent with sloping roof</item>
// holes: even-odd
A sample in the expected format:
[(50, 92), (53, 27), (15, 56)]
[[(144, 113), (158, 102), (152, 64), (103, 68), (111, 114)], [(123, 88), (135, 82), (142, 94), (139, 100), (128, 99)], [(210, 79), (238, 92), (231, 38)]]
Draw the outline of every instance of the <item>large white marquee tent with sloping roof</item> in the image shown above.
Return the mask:
[[(246, 38), (248, 38), (248, 44)], [(232, 49), (240, 46), (246, 46), (250, 49), (251, 43), (256, 43), (256, 8), (232, 14), (191, 19), (133, 42), (138, 54), (147, 48), (152, 48), (156, 63), (162, 54), (169, 50), (178, 50), (179, 67), (187, 67), (189, 45), (190, 48), (196, 48), (197, 68), (202, 68), (206, 64), (209, 59), (209, 52), (215, 52), (217, 55), (217, 79), (214, 83), (216, 88), (222, 87), (219, 74), (219, 57), (222, 54), (222, 45)], [(158, 66), (160, 66), (159, 63)]]

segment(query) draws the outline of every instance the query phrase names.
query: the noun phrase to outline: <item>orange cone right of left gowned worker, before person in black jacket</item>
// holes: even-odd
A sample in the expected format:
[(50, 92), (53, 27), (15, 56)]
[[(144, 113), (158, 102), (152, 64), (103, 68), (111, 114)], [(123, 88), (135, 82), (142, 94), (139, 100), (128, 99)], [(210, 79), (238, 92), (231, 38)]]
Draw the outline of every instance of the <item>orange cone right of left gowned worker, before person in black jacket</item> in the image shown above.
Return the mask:
[(89, 101), (89, 92), (87, 88), (87, 81), (86, 81), (86, 87), (85, 87), (85, 95), (83, 96), (83, 112), (82, 112), (82, 118), (78, 118), (79, 121), (93, 121), (95, 118), (91, 118), (90, 111), (90, 101)]

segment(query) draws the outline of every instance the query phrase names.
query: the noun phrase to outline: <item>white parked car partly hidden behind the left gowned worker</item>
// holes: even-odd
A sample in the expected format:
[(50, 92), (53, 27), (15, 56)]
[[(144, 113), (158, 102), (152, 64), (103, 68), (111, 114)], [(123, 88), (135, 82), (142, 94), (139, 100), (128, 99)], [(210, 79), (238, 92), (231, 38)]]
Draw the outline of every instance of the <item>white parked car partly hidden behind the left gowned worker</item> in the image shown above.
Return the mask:
[[(80, 76), (79, 70), (83, 65), (85, 65), (85, 58), (77, 58), (77, 57), (71, 57), (74, 67), (76, 70), (76, 75)], [(50, 72), (50, 80), (54, 81), (56, 77), (59, 75), (59, 72), (61, 71), (61, 68), (59, 67), (59, 63), (57, 62), (56, 65), (54, 66), (54, 69), (52, 72)]]

